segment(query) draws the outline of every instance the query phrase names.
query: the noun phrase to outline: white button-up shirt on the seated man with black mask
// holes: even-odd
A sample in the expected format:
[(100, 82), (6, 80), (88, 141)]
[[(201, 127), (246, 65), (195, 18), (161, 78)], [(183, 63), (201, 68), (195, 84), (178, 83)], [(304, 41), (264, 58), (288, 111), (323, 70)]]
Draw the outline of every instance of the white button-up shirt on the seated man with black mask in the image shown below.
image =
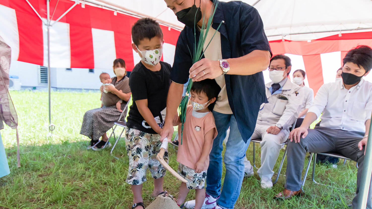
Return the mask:
[(321, 127), (365, 132), (365, 122), (371, 119), (372, 84), (364, 79), (347, 90), (342, 80), (323, 84), (308, 112), (317, 117), (321, 112)]

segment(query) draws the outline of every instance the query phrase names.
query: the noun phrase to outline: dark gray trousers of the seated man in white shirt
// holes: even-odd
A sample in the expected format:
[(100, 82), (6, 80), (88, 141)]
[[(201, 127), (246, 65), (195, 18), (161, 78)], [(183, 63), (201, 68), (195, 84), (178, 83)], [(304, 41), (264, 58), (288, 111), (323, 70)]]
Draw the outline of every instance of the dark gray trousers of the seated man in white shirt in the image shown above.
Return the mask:
[[(304, 169), (305, 155), (307, 152), (337, 152), (358, 162), (359, 168), (356, 181), (356, 196), (353, 199), (353, 209), (357, 208), (360, 178), (362, 177), (364, 148), (359, 150), (358, 143), (365, 133), (359, 131), (344, 131), (325, 127), (309, 129), (305, 138), (299, 143), (288, 143), (287, 171), (285, 188), (298, 191), (302, 185), (302, 170)], [(372, 209), (372, 183), (369, 187), (367, 209)]]

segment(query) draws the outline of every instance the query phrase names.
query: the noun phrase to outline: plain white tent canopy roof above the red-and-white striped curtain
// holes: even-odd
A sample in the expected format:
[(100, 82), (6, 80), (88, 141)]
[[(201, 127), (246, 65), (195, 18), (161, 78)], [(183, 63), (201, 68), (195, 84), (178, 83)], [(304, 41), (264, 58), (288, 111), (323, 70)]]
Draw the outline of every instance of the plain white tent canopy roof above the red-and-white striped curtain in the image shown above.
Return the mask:
[[(183, 27), (163, 0), (97, 0)], [(229, 1), (229, 0), (222, 0)], [(259, 11), (269, 40), (314, 40), (372, 30), (371, 0), (243, 0)], [(297, 35), (296, 35), (297, 34)]]

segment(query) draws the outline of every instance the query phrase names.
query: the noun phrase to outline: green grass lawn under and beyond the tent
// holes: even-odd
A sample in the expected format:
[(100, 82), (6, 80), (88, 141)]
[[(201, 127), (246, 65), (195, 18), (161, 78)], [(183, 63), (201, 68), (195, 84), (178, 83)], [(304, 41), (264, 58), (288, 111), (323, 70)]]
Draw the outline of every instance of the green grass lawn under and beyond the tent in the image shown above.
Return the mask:
[[(19, 120), (21, 167), (17, 168), (16, 133), (5, 127), (1, 136), (6, 147), (10, 175), (0, 178), (0, 208), (71, 208), (103, 209), (130, 208), (132, 193), (125, 183), (128, 172), (124, 140), (120, 141), (114, 155), (109, 150), (96, 152), (86, 150), (88, 138), (80, 135), (81, 121), (85, 111), (100, 107), (99, 93), (52, 93), (53, 137), (48, 133), (48, 98), (43, 92), (10, 92)], [(256, 164), (260, 164), (260, 149), (256, 144)], [(170, 165), (177, 168), (176, 150), (169, 147)], [(252, 144), (247, 150), (252, 161)], [(280, 153), (281, 159), (283, 151)], [(278, 160), (275, 171), (278, 170)], [(306, 163), (306, 162), (305, 162)], [(356, 189), (355, 162), (340, 162), (334, 169), (317, 165), (316, 179), (312, 183), (311, 171), (304, 187), (305, 196), (291, 200), (274, 200), (273, 196), (283, 189), (285, 177), (272, 190), (260, 187), (258, 175), (243, 180), (240, 197), (235, 208), (347, 208)], [(285, 174), (285, 166), (282, 174)], [(255, 170), (256, 171), (256, 170)], [(274, 176), (275, 177), (275, 176)], [(153, 181), (148, 174), (144, 184), (144, 200), (148, 205), (153, 198)], [(180, 182), (167, 173), (165, 189), (177, 196)], [(190, 192), (187, 199), (193, 199)]]

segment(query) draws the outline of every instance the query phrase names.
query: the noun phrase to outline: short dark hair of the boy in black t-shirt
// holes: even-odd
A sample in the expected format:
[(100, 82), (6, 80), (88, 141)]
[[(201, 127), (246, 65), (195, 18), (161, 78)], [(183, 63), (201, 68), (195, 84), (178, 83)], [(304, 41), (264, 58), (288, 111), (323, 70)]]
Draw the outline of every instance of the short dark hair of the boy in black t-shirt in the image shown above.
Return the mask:
[(132, 26), (132, 39), (136, 46), (140, 44), (141, 40), (145, 38), (151, 40), (155, 36), (163, 38), (163, 31), (159, 23), (151, 18), (141, 18)]

